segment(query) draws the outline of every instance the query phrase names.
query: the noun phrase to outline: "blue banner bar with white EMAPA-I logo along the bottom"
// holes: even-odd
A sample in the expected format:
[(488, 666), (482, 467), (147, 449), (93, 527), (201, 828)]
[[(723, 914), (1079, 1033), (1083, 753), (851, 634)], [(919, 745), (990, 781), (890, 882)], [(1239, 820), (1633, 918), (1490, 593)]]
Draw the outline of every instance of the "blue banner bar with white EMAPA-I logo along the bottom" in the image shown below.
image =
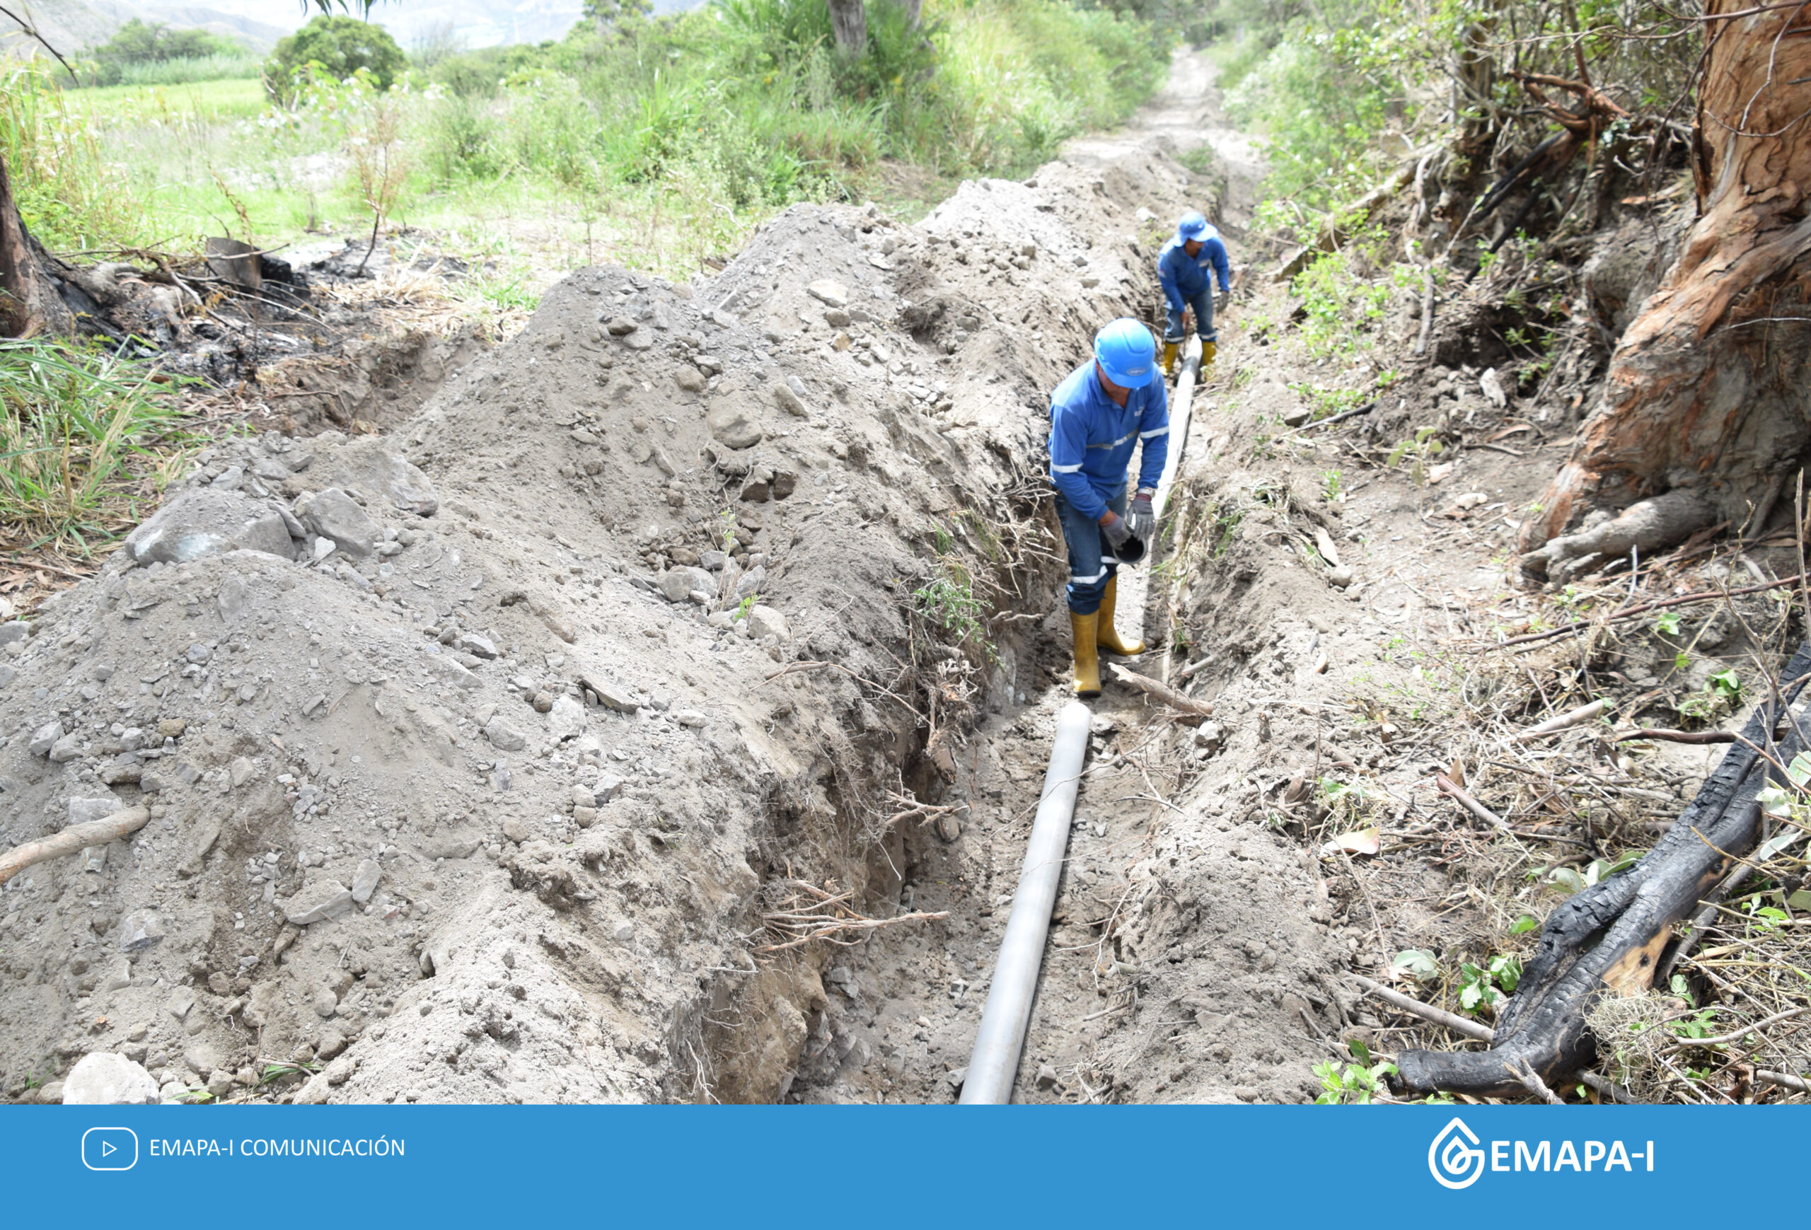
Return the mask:
[[(1675, 1199), (1693, 1148), (1811, 1176), (1811, 1107), (18, 1107), (7, 1225), (1400, 1230), (1405, 1210), (1570, 1225)], [(197, 1203), (199, 1201), (199, 1203)], [(1632, 1203), (1634, 1201), (1634, 1203)], [(43, 1221), (38, 1221), (42, 1217)], [(1610, 1225), (1615, 1225), (1610, 1223)], [(105, 1223), (103, 1223), (105, 1225)]]

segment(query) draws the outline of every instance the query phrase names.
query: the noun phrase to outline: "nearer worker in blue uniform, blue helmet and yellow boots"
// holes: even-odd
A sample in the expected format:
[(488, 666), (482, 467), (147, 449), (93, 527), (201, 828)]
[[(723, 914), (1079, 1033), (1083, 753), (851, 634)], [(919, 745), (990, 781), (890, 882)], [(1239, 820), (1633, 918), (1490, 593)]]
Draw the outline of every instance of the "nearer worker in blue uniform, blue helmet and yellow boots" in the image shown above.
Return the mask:
[[(1143, 444), (1137, 489), (1126, 500), (1132, 449)], [(1170, 455), (1170, 406), (1157, 379), (1150, 330), (1119, 319), (1094, 337), (1094, 357), (1050, 395), (1050, 482), (1068, 543), (1068, 627), (1076, 638), (1076, 696), (1101, 694), (1099, 650), (1141, 654), (1114, 629), (1119, 554), (1157, 531), (1152, 500)]]

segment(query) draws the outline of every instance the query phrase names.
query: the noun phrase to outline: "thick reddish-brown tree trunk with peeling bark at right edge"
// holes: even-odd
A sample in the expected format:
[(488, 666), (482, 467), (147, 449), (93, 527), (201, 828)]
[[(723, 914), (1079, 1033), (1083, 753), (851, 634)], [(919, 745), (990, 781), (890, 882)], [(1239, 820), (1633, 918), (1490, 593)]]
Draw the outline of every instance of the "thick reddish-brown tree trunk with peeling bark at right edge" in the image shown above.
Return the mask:
[[(1608, 563), (1612, 542), (1650, 553), (1719, 522), (1758, 529), (1811, 444), (1811, 5), (1704, 13), (1699, 221), (1523, 525), (1530, 576)], [(1624, 513), (1617, 529), (1568, 533), (1599, 509)]]

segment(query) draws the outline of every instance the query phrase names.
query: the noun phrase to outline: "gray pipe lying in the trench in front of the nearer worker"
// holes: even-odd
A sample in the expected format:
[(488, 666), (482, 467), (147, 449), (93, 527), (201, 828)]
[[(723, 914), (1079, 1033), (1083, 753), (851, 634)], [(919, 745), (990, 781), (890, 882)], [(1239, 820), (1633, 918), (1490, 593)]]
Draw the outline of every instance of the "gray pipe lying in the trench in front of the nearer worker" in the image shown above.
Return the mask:
[(1030, 1023), (1043, 942), (1050, 933), (1050, 909), (1056, 908), (1056, 882), (1068, 853), (1068, 826), (1076, 817), (1076, 786), (1081, 783), (1081, 761), (1088, 754), (1090, 719), (1092, 714), (1081, 701), (1070, 701), (1056, 716), (1056, 741), (1050, 746), (1050, 768), (1043, 774), (1038, 819), (1030, 826), (1025, 868), (1020, 871), (1018, 891), (1012, 893), (1012, 913), (1007, 917), (1005, 938), (1000, 940), (969, 1072), (962, 1081), (965, 1107), (1012, 1101), (1012, 1078), (1018, 1074), (1025, 1027)]

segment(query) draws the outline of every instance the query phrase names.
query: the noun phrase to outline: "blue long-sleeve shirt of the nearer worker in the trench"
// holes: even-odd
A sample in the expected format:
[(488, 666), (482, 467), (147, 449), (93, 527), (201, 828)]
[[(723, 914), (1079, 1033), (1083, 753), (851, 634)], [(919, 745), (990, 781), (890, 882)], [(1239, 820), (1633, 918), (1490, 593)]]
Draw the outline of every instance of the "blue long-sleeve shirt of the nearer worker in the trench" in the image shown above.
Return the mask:
[(1087, 516), (1107, 514), (1107, 493), (1126, 480), (1139, 440), (1145, 453), (1137, 485), (1155, 489), (1170, 456), (1170, 399), (1163, 380), (1132, 389), (1119, 409), (1088, 359), (1050, 393), (1050, 482)]

